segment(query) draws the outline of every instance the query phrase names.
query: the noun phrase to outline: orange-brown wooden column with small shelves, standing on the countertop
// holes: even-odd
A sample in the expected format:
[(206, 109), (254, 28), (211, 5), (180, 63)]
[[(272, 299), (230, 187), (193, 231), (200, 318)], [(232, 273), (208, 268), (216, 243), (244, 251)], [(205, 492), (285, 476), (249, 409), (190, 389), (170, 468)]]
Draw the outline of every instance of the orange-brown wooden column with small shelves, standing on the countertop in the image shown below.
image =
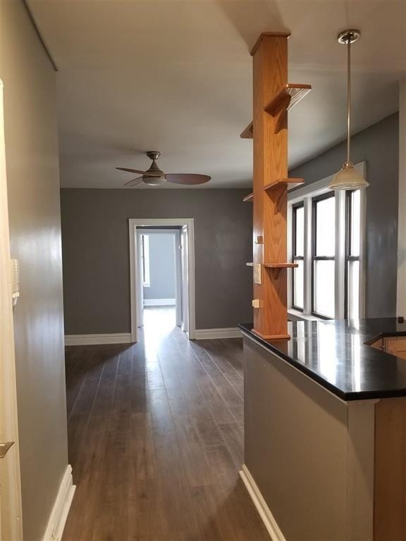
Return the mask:
[(254, 332), (268, 340), (289, 338), (287, 272), (288, 110), (310, 85), (288, 84), (289, 33), (266, 32), (252, 49), (254, 120), (240, 137), (254, 139), (254, 189), (245, 201), (254, 203)]

